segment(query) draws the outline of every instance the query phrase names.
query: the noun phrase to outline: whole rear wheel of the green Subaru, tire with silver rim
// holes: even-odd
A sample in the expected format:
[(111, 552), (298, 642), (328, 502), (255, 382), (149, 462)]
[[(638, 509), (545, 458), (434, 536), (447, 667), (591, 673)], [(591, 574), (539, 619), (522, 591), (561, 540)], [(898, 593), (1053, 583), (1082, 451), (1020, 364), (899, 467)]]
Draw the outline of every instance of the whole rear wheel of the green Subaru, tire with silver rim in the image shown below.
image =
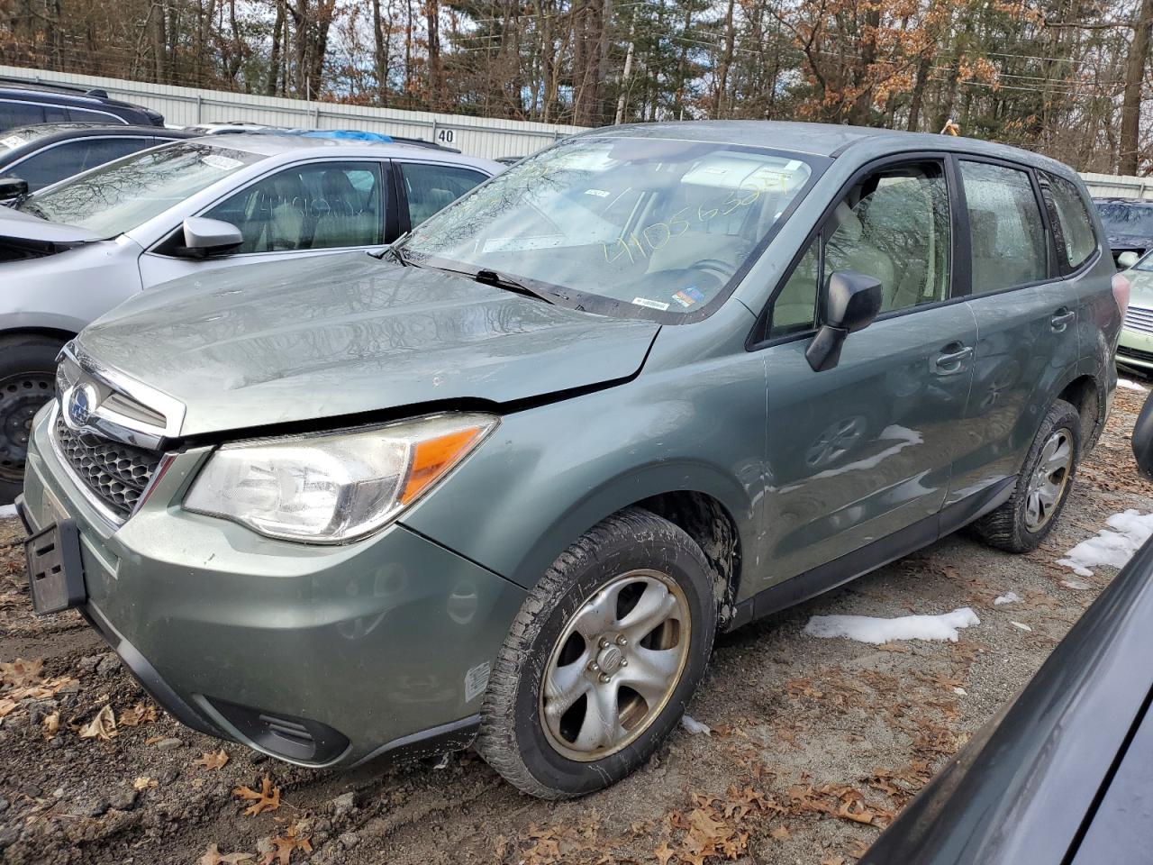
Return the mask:
[(1046, 539), (1064, 510), (1080, 459), (1080, 415), (1062, 399), (1041, 421), (1012, 496), (973, 524), (992, 547), (1028, 552)]

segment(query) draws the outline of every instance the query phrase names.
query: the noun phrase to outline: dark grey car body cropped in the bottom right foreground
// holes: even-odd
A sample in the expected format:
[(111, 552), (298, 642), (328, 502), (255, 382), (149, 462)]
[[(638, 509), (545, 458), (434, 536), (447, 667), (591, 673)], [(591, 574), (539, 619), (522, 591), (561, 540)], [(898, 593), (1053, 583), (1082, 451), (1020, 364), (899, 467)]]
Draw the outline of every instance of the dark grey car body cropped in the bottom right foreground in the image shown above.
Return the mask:
[(1151, 620), (1153, 540), (858, 865), (1150, 862)]

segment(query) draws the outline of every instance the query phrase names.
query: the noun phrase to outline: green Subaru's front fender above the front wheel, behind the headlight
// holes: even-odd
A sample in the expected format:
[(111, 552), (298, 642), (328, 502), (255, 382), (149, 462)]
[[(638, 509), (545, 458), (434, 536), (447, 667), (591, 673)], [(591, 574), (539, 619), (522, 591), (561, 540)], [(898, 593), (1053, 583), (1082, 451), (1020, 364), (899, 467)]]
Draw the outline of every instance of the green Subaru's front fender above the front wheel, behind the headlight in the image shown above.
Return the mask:
[[(741, 361), (763, 364), (755, 355)], [(407, 527), (525, 588), (605, 517), (670, 491), (717, 499), (745, 561), (764, 489), (762, 375), (676, 370), (507, 415)]]

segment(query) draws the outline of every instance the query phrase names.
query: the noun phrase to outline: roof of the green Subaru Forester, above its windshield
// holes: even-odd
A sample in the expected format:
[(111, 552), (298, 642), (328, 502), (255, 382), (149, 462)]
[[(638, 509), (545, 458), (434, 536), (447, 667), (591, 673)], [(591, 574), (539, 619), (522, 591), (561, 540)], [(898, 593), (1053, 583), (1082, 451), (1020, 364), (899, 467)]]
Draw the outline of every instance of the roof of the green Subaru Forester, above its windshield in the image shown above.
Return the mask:
[(930, 133), (906, 133), (837, 123), (802, 123), (783, 120), (689, 120), (665, 123), (631, 123), (590, 129), (585, 136), (680, 138), (747, 146), (771, 148), (796, 153), (838, 158), (850, 151), (948, 150), (1003, 157), (1062, 174), (1075, 173), (1048, 157), (979, 138)]

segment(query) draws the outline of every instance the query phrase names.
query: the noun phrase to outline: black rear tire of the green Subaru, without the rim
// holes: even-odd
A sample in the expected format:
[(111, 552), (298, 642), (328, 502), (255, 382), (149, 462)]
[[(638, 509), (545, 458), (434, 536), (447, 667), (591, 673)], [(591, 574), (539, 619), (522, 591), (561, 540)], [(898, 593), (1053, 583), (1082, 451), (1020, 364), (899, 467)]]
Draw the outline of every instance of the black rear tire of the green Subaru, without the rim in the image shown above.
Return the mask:
[[(1046, 461), (1048, 467), (1055, 465), (1054, 460), (1060, 454), (1061, 445), (1058, 445), (1054, 460), (1045, 459), (1047, 457), (1046, 447), (1050, 442), (1060, 441), (1062, 437), (1070, 449), (1068, 462), (1062, 473), (1056, 498), (1047, 512), (1042, 510), (1043, 521), (1037, 525), (1030, 504), (1031, 487), (1037, 473), (1042, 471), (1042, 461)], [(1041, 421), (1037, 437), (1033, 438), (1033, 445), (1028, 449), (1025, 464), (1020, 474), (1017, 475), (1017, 483), (1009, 501), (973, 522), (973, 533), (990, 547), (1009, 552), (1030, 552), (1037, 549), (1053, 531), (1053, 526), (1056, 525), (1064, 510), (1069, 491), (1072, 489), (1077, 475), (1080, 449), (1080, 415), (1063, 399), (1055, 400)], [(1055, 475), (1048, 476), (1052, 481)]]

